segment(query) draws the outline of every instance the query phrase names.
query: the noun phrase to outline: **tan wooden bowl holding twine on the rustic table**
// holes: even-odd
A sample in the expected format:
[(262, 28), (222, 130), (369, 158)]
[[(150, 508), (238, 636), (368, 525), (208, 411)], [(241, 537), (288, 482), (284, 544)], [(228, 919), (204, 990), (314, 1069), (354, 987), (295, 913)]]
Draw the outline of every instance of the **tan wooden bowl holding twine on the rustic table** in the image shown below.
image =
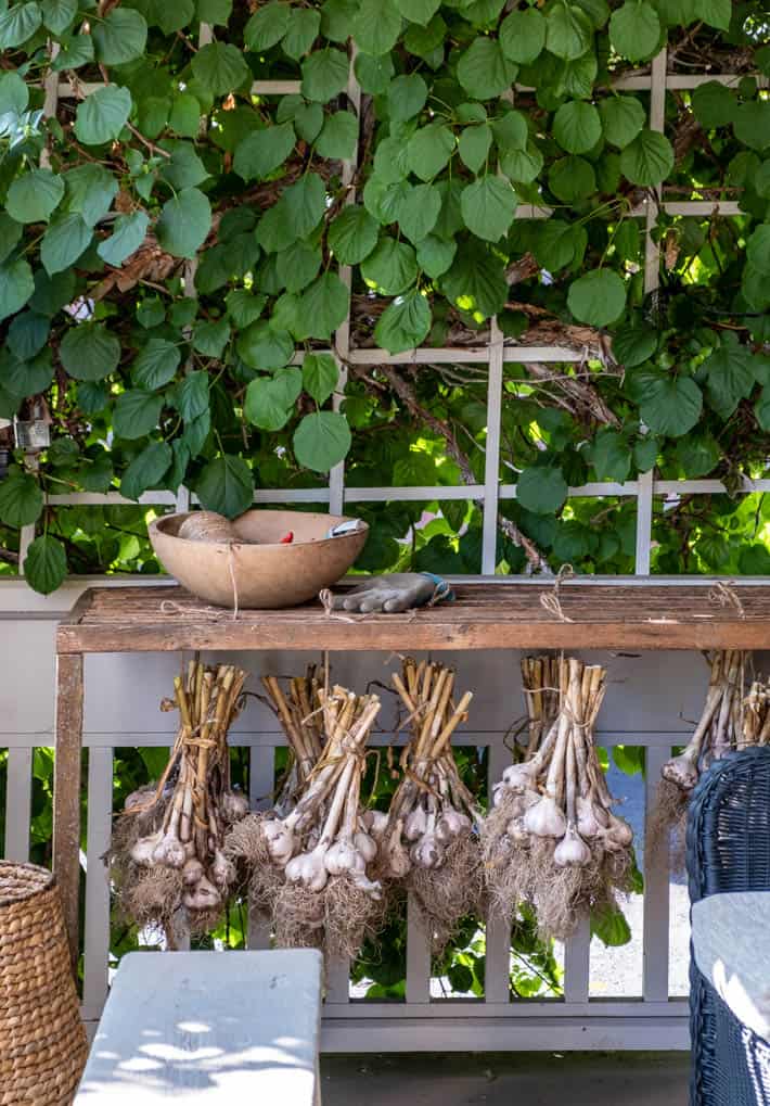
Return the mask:
[[(275, 609), (307, 603), (345, 575), (363, 549), (369, 528), (329, 538), (344, 515), (305, 511), (246, 511), (233, 521), (250, 544), (178, 538), (187, 514), (156, 519), (148, 526), (158, 560), (189, 592), (220, 607)], [(282, 545), (289, 531), (294, 541)], [(253, 543), (253, 544), (252, 544)], [(233, 588), (233, 578), (235, 589)]]

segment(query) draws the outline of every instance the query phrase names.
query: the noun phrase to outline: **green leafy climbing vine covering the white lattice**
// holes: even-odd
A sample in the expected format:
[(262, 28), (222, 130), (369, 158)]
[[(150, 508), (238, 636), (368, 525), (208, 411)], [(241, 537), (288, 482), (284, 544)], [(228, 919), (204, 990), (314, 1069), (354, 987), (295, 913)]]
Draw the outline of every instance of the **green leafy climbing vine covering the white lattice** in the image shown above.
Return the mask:
[[(158, 570), (145, 508), (62, 492), (234, 515), (344, 459), (351, 487), (483, 482), (493, 316), (573, 358), (506, 353), (499, 567), (627, 571), (633, 503), (568, 486), (764, 470), (769, 28), (729, 0), (0, 0), (0, 572)], [(629, 79), (664, 46), (736, 76), (669, 81), (658, 133)], [(354, 351), (461, 355), (348, 356), (348, 319)], [(471, 500), (362, 509), (359, 567), (477, 571)], [(768, 571), (761, 502), (655, 525), (662, 571)]]

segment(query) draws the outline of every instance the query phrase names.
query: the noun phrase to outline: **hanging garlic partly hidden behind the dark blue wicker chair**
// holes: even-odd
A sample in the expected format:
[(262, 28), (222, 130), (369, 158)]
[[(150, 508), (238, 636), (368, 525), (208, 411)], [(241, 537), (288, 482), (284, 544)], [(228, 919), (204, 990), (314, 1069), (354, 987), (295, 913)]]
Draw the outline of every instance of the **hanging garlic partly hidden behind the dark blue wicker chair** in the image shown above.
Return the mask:
[(673, 831), (677, 862), (684, 853), (687, 804), (702, 773), (726, 753), (770, 740), (768, 687), (755, 681), (743, 698), (748, 659), (749, 654), (739, 649), (710, 656), (708, 689), (698, 724), (683, 751), (661, 770), (652, 839), (655, 847), (661, 847), (668, 843)]

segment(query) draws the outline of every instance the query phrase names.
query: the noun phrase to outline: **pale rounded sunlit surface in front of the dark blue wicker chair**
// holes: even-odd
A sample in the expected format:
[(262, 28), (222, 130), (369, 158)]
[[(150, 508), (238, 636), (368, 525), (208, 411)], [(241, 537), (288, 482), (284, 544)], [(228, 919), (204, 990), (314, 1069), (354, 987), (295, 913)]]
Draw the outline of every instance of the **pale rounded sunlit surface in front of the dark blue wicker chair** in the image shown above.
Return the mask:
[(770, 891), (730, 891), (695, 902), (693, 951), (738, 1021), (770, 1040)]

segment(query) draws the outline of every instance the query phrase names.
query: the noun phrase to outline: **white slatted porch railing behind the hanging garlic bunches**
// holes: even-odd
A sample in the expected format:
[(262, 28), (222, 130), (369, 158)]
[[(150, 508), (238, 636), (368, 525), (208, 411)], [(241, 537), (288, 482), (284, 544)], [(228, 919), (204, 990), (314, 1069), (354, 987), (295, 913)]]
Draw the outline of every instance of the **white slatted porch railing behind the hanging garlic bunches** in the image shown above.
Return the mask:
[[(33, 749), (51, 744), (55, 618), (82, 586), (83, 582), (71, 582), (63, 594), (43, 599), (20, 582), (0, 584), (0, 748), (9, 750), (6, 853), (13, 859), (23, 860), (29, 855)], [(291, 659), (286, 655), (267, 654), (264, 660), (262, 656), (251, 654), (249, 666), (256, 669), (264, 665), (265, 670), (283, 672), (304, 664), (304, 658)], [(358, 686), (371, 676), (382, 678), (382, 660), (379, 655), (339, 657), (336, 675), (349, 677)], [(478, 703), (472, 720), (478, 729), (463, 731), (457, 744), (488, 747), (488, 770), (494, 781), (508, 763), (503, 744), (507, 724), (521, 712), (518, 658), (497, 653), (463, 654), (454, 662), (462, 681), (476, 691)], [(108, 979), (109, 887), (101, 858), (109, 844), (115, 750), (170, 743), (171, 732), (158, 729), (159, 724), (169, 724), (168, 716), (156, 711), (178, 658), (106, 655), (89, 657), (86, 664), (97, 666), (92, 678), (86, 679), (84, 732), (88, 817), (83, 1013), (86, 1021), (93, 1022), (101, 1013)], [(672, 745), (682, 743), (687, 730), (684, 719), (697, 711), (706, 668), (697, 655), (690, 654), (615, 656), (608, 657), (606, 664), (610, 690), (599, 739), (605, 747), (645, 749), (650, 804), (662, 762)], [(662, 671), (665, 679), (660, 677)], [(233, 748), (250, 751), (254, 802), (273, 789), (275, 749), (283, 743), (272, 718), (260, 711), (257, 706), (250, 707), (231, 740)], [(387, 730), (377, 741), (387, 743)], [(351, 999), (347, 963), (333, 966), (324, 1014), (324, 1050), (686, 1047), (686, 1005), (682, 998), (669, 1000), (668, 995), (669, 875), (665, 860), (653, 856), (650, 848), (645, 849), (644, 868), (642, 971), (640, 985), (634, 989), (637, 997), (590, 995), (591, 957), (605, 953), (595, 942), (592, 948), (586, 924), (565, 950), (563, 998), (509, 1001), (507, 927), (493, 922), (487, 928), (484, 998), (436, 1000), (431, 997), (426, 938), (410, 912), (405, 1001)], [(249, 943), (264, 947), (265, 933), (259, 925), (252, 927)], [(686, 935), (678, 935), (675, 945), (675, 954), (682, 956)]]

